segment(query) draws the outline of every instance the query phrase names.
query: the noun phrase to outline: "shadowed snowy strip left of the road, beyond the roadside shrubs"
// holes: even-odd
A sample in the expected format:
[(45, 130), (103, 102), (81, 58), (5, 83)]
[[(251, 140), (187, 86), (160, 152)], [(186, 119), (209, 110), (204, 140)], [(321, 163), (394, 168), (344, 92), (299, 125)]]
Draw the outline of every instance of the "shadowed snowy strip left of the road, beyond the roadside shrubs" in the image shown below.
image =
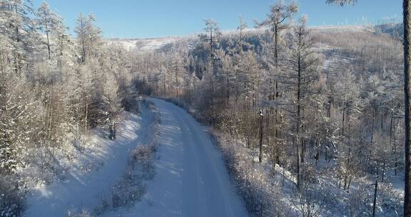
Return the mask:
[(151, 134), (148, 131), (153, 114), (148, 106), (141, 106), (141, 115), (125, 116), (115, 141), (92, 133), (96, 146), (81, 156), (81, 161), (98, 162), (98, 166), (90, 170), (73, 166), (64, 181), (35, 188), (27, 198), (25, 216), (71, 216), (101, 206), (103, 198), (111, 196), (113, 186), (126, 173), (131, 149), (146, 143)]

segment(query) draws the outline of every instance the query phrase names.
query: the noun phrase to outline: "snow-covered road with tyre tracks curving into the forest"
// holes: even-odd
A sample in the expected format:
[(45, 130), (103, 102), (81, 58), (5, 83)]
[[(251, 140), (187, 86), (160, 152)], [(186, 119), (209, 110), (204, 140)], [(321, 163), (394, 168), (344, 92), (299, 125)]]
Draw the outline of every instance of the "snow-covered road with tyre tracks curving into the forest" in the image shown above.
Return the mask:
[(140, 203), (106, 216), (247, 216), (206, 128), (178, 106), (150, 100), (161, 113), (156, 177)]

